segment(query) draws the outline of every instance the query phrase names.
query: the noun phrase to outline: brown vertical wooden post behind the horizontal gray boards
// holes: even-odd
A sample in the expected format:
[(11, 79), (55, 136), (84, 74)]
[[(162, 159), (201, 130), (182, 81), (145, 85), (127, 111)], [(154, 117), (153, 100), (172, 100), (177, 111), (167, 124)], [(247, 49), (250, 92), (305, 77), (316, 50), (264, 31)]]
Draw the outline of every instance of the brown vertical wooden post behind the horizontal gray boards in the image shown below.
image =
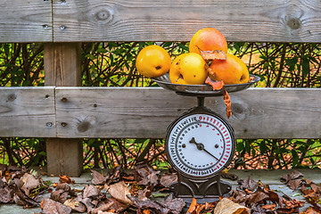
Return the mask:
[[(81, 86), (80, 52), (80, 43), (46, 43), (45, 86)], [(81, 139), (48, 138), (46, 152), (48, 175), (80, 176), (83, 169)]]

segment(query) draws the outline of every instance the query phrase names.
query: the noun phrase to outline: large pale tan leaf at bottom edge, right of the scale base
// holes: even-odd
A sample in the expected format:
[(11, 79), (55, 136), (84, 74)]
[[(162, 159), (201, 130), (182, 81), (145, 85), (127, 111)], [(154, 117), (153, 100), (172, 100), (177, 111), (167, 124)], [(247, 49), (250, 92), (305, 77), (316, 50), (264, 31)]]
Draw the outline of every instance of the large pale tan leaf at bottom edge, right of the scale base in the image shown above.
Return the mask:
[(251, 210), (227, 198), (222, 198), (214, 209), (214, 214), (250, 214)]

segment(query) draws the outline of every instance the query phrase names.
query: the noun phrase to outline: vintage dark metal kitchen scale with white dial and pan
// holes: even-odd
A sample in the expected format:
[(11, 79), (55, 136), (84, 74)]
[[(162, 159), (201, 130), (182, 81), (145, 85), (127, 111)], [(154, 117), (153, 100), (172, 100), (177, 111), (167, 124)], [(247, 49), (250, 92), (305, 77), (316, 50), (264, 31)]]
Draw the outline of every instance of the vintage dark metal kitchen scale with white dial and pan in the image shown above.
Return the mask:
[(198, 105), (175, 119), (167, 129), (165, 152), (170, 165), (177, 170), (177, 182), (170, 190), (185, 202), (218, 201), (232, 186), (220, 179), (235, 154), (235, 133), (226, 119), (204, 106), (207, 96), (222, 96), (244, 90), (259, 81), (250, 75), (245, 84), (226, 85), (213, 90), (210, 85), (179, 85), (169, 80), (169, 74), (152, 78), (159, 86), (175, 91), (177, 95), (196, 96)]

